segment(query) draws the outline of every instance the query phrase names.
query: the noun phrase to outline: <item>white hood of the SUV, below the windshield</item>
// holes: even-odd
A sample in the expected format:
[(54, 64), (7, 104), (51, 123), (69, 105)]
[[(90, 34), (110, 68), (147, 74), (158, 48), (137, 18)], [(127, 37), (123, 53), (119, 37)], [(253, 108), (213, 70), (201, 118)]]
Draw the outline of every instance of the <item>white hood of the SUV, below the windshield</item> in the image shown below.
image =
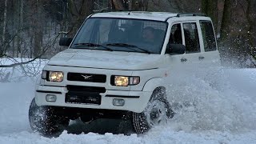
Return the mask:
[(160, 54), (67, 49), (51, 58), (48, 65), (113, 70), (145, 70), (158, 68), (164, 62), (163, 59)]

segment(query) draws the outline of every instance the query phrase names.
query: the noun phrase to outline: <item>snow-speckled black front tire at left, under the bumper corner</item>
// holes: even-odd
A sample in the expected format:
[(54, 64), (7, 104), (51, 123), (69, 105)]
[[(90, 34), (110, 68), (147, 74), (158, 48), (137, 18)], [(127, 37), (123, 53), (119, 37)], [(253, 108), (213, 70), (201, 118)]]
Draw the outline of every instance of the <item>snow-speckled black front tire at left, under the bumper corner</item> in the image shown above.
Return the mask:
[(69, 125), (70, 119), (57, 113), (53, 106), (37, 106), (33, 98), (29, 110), (30, 127), (44, 136), (60, 134)]

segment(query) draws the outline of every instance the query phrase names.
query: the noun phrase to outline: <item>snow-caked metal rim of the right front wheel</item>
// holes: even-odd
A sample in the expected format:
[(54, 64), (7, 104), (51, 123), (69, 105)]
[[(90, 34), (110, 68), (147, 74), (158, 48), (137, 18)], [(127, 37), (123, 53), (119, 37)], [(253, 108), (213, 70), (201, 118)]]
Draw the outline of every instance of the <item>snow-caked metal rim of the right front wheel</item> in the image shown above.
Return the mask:
[(163, 102), (159, 100), (154, 100), (153, 102), (150, 102), (150, 104), (147, 106), (145, 115), (146, 122), (150, 127), (166, 123), (166, 106)]

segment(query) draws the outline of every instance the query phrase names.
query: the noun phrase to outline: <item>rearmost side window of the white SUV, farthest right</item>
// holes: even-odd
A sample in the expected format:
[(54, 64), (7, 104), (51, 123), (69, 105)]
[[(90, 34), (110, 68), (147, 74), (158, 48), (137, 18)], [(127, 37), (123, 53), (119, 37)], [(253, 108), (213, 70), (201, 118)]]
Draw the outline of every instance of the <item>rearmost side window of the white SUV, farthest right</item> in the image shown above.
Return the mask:
[(205, 47), (205, 51), (217, 50), (216, 42), (214, 38), (214, 29), (210, 21), (200, 21), (202, 29), (202, 39)]

